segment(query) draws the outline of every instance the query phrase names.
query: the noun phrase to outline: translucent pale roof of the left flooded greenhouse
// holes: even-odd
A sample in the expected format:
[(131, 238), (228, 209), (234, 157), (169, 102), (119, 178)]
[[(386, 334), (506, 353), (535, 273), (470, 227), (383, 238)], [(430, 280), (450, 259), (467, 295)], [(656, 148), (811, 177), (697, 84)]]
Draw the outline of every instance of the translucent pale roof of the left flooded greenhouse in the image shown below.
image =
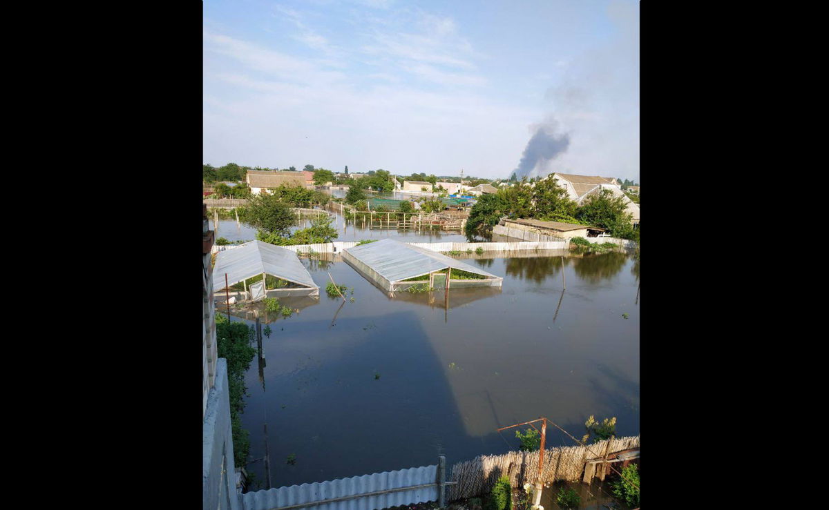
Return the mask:
[(298, 285), (319, 288), (295, 252), (258, 240), (216, 255), (213, 288), (225, 288), (225, 273), (228, 285), (234, 285), (263, 272)]

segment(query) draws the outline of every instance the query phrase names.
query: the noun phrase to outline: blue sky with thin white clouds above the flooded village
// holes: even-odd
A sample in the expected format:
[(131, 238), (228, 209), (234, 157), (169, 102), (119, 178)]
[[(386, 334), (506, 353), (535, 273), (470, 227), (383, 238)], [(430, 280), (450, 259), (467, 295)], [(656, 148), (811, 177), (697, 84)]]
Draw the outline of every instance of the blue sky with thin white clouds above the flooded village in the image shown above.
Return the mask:
[(638, 2), (205, 0), (203, 162), (639, 177)]

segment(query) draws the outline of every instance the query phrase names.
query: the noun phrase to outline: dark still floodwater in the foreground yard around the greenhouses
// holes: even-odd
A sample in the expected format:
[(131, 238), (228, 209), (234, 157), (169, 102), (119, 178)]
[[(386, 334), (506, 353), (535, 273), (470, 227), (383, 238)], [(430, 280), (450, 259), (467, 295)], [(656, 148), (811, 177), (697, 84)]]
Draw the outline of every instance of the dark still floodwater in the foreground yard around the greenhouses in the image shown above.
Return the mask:
[[(259, 488), (266, 442), (270, 483), (280, 487), (435, 464), (438, 455), (451, 469), (517, 450), (515, 431), (496, 429), (538, 416), (579, 439), (589, 415), (616, 416), (617, 435), (638, 435), (638, 262), (561, 253), (563, 265), (558, 252), (462, 255), (504, 277), (502, 289), (394, 298), (342, 260), (303, 260), (319, 301), (269, 317), (264, 363), (255, 358), (246, 378), (247, 470)], [(327, 296), (329, 273), (355, 302)], [(548, 447), (574, 445), (550, 428)]]

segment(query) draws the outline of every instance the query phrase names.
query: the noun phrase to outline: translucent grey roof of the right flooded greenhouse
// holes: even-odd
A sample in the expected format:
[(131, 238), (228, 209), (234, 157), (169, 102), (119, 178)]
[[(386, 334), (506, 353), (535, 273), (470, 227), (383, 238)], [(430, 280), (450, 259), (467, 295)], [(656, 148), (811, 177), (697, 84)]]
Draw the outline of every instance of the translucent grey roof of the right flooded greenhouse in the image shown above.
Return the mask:
[(388, 281), (407, 280), (430, 272), (440, 271), (447, 267), (497, 278), (497, 276), (482, 270), (480, 267), (473, 267), (441, 253), (400, 243), (400, 241), (394, 239), (383, 239), (376, 243), (346, 248), (343, 251), (371, 267)]

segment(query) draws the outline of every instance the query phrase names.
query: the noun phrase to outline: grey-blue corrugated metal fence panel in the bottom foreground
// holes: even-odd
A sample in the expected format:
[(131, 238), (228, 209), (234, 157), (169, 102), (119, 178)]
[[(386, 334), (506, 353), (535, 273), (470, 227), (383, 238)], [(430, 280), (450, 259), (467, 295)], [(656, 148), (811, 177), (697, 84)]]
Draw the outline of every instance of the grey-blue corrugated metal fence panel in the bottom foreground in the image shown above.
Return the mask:
[(438, 499), (438, 466), (364, 474), (349, 479), (337, 479), (315, 484), (291, 485), (242, 494), (244, 510), (274, 510), (303, 503), (316, 503), (326, 499), (375, 493), (391, 488), (434, 484), (430, 487), (413, 488), (393, 493), (350, 498), (332, 503), (312, 504), (302, 510), (382, 510), (383, 508), (425, 503)]

